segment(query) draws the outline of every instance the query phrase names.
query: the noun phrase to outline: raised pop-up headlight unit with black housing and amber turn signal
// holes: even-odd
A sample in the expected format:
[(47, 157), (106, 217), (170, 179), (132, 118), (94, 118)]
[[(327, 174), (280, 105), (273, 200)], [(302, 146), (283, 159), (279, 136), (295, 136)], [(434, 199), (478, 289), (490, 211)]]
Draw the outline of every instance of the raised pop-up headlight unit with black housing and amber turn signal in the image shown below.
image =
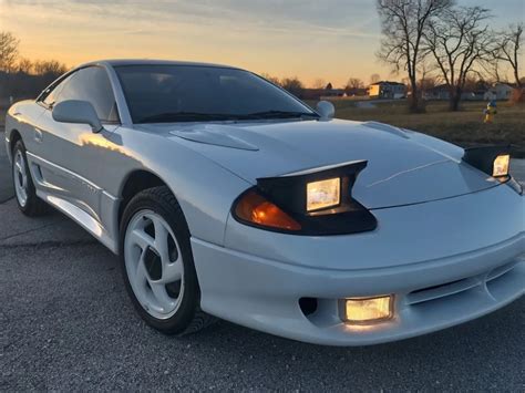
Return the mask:
[(374, 230), (375, 217), (352, 197), (366, 161), (257, 179), (234, 203), (238, 221), (292, 235), (346, 235)]

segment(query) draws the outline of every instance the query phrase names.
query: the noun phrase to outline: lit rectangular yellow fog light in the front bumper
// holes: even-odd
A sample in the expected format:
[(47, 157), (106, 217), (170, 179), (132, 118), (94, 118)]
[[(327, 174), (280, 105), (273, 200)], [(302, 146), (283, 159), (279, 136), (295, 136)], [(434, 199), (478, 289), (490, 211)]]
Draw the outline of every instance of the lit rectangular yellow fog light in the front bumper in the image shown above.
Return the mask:
[(393, 317), (393, 296), (346, 300), (344, 319), (351, 324), (373, 324)]

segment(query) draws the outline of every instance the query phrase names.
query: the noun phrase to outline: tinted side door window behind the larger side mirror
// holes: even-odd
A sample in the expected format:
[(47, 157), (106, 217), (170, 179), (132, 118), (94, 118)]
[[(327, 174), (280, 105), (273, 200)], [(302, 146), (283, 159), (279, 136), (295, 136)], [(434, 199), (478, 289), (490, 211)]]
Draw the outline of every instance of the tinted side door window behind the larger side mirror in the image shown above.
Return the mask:
[(58, 94), (56, 102), (87, 101), (93, 105), (101, 121), (119, 121), (115, 96), (104, 69), (99, 66), (82, 69), (65, 82), (64, 87)]

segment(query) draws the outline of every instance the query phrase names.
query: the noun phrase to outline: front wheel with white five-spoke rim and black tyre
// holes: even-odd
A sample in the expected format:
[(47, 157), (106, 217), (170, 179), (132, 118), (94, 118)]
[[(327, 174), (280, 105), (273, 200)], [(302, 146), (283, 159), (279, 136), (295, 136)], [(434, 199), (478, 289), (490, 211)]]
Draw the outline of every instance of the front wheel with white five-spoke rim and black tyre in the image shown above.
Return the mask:
[(150, 325), (182, 334), (213, 321), (200, 311), (189, 230), (167, 187), (146, 189), (126, 206), (121, 256), (127, 292)]

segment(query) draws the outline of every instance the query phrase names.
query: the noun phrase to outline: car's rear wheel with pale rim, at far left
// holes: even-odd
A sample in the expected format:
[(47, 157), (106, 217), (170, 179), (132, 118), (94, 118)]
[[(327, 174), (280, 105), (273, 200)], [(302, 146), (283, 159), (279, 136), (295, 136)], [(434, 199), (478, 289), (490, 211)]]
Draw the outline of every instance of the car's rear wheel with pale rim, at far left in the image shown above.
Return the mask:
[(12, 179), (18, 207), (29, 217), (40, 216), (47, 211), (48, 205), (37, 196), (22, 141), (14, 144), (12, 157)]

